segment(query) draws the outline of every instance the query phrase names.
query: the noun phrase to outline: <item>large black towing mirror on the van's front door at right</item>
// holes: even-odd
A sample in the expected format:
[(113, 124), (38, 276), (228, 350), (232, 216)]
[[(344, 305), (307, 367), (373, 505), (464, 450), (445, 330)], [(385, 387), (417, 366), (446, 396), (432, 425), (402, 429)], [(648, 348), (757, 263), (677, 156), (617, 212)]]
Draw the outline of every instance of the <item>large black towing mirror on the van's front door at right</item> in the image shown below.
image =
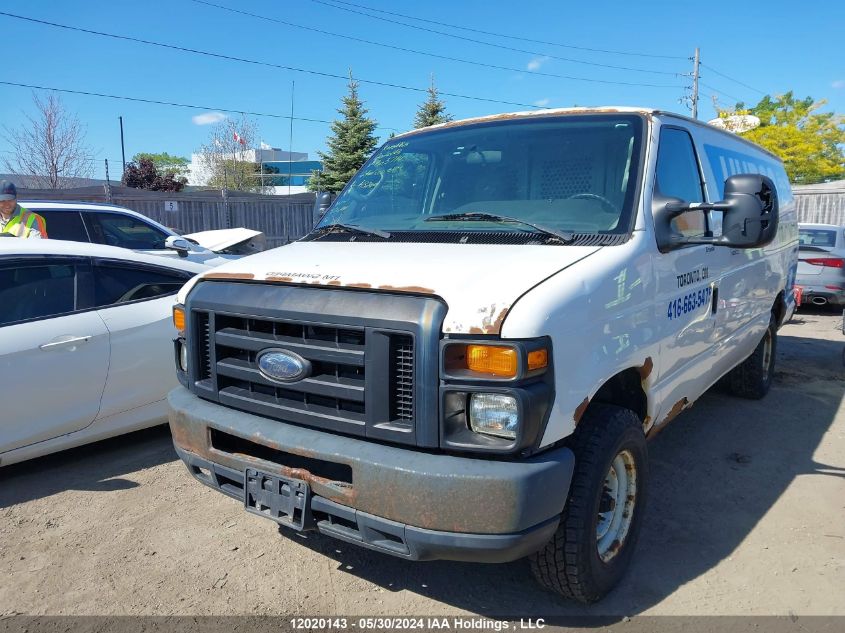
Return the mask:
[[(687, 244), (730, 248), (759, 248), (771, 243), (778, 230), (778, 194), (775, 184), (761, 174), (739, 174), (725, 181), (720, 202), (684, 202), (655, 194), (652, 202), (657, 241), (663, 252)], [(684, 237), (672, 231), (672, 220), (690, 211), (722, 211), (722, 235)]]

